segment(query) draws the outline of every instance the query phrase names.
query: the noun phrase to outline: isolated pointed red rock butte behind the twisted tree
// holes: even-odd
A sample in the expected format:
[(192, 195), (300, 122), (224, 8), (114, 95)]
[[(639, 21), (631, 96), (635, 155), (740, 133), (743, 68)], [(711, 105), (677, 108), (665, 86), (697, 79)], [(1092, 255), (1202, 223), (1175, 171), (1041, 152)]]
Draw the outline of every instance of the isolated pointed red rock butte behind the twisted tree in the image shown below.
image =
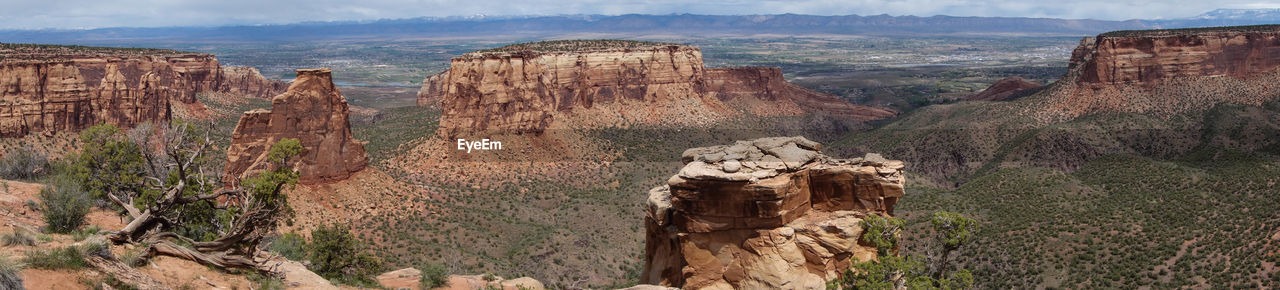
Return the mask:
[(294, 169), (303, 184), (339, 181), (369, 164), (365, 143), (351, 134), (347, 98), (329, 69), (298, 69), (288, 91), (271, 98), (271, 110), (244, 112), (227, 151), (225, 183), (268, 170), (271, 144), (284, 138), (302, 143)]

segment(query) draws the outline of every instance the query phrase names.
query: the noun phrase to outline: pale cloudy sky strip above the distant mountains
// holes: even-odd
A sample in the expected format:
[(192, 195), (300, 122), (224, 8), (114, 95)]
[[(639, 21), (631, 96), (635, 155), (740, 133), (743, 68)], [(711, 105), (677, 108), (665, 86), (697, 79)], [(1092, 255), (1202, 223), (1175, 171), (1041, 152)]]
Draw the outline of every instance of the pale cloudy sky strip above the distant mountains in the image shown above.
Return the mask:
[(891, 14), (1156, 19), (1280, 0), (0, 0), (4, 28), (279, 24), (413, 17), (557, 14)]

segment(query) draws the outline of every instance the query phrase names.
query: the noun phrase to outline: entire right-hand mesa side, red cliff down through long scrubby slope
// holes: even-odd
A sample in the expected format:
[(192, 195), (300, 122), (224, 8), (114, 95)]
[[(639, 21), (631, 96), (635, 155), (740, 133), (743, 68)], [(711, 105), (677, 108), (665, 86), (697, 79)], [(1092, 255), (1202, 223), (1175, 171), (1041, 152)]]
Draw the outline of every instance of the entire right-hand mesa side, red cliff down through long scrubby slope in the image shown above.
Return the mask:
[(1280, 59), (1276, 36), (1280, 26), (1100, 34), (1083, 40), (1068, 73), (1032, 96), (923, 107), (833, 149), (886, 152), (910, 164), (911, 172), (957, 184), (1010, 166), (1074, 170), (1112, 153), (1265, 148), (1268, 138), (1219, 135), (1272, 121), (1222, 128), (1238, 123), (1233, 119), (1263, 118), (1215, 109), (1280, 100), (1280, 69), (1261, 69)]

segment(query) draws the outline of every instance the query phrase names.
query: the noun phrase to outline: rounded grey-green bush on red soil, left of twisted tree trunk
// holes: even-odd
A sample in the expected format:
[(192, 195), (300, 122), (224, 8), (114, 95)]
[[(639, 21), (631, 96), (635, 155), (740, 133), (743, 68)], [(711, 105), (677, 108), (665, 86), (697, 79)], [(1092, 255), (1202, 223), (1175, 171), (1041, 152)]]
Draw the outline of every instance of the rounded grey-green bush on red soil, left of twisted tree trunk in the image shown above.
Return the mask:
[(84, 225), (93, 201), (74, 179), (55, 176), (40, 190), (40, 204), (49, 231), (67, 234)]

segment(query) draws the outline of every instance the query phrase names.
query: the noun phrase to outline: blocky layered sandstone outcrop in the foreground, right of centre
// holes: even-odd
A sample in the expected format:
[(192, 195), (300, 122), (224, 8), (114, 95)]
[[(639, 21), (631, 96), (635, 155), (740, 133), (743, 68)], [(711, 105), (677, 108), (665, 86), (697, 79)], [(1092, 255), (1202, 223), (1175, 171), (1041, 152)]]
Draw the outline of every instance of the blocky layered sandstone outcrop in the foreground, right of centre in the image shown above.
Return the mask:
[(854, 262), (867, 215), (892, 215), (902, 162), (836, 160), (803, 137), (685, 151), (649, 192), (643, 284), (685, 289), (822, 289)]

